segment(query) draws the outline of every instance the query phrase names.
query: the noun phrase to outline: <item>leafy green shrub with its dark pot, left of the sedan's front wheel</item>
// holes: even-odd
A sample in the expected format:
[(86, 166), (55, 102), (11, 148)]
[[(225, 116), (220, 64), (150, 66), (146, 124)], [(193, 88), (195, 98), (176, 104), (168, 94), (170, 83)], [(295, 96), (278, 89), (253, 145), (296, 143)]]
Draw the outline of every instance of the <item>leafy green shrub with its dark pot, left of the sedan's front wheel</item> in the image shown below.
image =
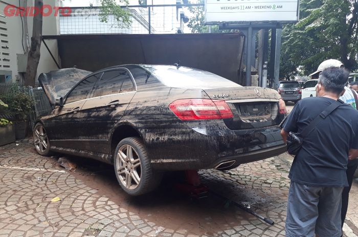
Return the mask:
[(3, 96), (9, 105), (8, 113), (13, 116), (16, 139), (24, 139), (29, 128), (29, 114), (33, 110), (33, 100), (24, 91), (14, 86), (9, 93)]

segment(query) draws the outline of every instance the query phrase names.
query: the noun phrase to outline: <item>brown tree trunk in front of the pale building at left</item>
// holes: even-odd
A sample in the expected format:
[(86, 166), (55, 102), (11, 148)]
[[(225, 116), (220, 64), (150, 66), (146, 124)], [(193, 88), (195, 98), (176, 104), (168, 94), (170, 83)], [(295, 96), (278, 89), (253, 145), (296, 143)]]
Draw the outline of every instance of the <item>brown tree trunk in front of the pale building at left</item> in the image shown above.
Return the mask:
[[(43, 0), (35, 0), (35, 9), (41, 9)], [(40, 46), (42, 36), (42, 14), (34, 16), (31, 45), (27, 59), (25, 86), (35, 86), (38, 62), (40, 61)]]

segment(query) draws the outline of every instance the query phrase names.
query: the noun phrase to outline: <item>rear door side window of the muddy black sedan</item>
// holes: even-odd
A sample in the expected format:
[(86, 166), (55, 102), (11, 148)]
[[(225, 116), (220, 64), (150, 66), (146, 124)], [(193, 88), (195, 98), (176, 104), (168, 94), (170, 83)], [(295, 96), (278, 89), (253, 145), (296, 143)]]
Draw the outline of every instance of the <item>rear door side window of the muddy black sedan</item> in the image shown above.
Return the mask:
[(130, 74), (126, 70), (107, 71), (99, 81), (93, 97), (135, 91)]

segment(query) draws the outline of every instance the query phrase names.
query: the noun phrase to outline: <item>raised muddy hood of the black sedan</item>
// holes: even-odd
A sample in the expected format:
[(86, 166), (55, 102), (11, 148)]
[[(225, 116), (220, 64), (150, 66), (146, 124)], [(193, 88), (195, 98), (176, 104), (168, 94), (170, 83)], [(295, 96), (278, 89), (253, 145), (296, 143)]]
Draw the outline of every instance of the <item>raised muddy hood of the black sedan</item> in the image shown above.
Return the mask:
[(38, 82), (49, 98), (50, 104), (55, 105), (56, 99), (64, 97), (81, 79), (91, 71), (77, 68), (65, 68), (41, 73)]

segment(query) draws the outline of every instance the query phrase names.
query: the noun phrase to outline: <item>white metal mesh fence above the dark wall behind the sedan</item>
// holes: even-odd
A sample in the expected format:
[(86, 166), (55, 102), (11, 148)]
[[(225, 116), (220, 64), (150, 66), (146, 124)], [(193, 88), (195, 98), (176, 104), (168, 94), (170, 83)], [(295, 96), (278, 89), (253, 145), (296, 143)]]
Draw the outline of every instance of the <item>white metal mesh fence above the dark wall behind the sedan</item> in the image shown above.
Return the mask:
[(131, 25), (120, 27), (113, 15), (101, 22), (99, 7), (74, 7), (71, 13), (60, 16), (60, 34), (173, 34), (183, 33), (188, 22), (189, 7), (203, 4), (137, 5), (128, 6)]

